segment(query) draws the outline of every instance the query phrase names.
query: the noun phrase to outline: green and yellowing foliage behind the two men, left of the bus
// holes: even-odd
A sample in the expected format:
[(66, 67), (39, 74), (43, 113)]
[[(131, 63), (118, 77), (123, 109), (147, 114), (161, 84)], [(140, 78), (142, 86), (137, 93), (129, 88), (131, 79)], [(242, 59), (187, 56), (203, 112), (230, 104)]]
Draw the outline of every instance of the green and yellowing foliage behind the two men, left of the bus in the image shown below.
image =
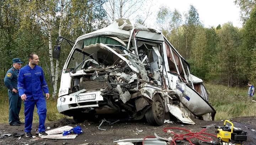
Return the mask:
[[(103, 9), (104, 0), (72, 0), (65, 5), (62, 36), (75, 39), (107, 25), (106, 12)], [(52, 45), (58, 37), (60, 23), (59, 0), (43, 1), (0, 1), (0, 79), (3, 80), (6, 71), (12, 66), (12, 58), (20, 57), (24, 65), (28, 62), (27, 55), (38, 54), (46, 79), (50, 86), (49, 73), (49, 40), (48, 30), (52, 34)], [(63, 67), (69, 55), (70, 46), (62, 45), (60, 68)], [(60, 77), (60, 75), (59, 75)], [(0, 81), (0, 89), (4, 82)]]

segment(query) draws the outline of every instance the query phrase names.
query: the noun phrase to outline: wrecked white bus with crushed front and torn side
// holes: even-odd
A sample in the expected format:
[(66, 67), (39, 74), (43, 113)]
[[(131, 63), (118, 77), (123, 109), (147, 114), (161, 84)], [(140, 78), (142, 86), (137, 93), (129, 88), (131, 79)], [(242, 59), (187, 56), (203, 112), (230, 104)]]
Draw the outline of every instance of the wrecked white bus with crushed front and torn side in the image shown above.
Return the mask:
[(76, 122), (145, 117), (161, 126), (170, 116), (189, 124), (191, 118), (213, 120), (216, 111), (205, 88), (194, 89), (197, 77), (189, 68), (164, 35), (119, 18), (76, 39), (63, 67), (58, 112)]

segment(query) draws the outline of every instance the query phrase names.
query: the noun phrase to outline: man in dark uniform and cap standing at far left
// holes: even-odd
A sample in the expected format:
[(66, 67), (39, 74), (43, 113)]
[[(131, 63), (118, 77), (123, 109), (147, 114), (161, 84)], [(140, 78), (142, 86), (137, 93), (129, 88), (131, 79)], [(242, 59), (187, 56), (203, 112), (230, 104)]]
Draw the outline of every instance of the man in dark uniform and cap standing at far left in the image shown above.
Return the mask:
[(9, 96), (9, 124), (11, 126), (20, 126), (24, 124), (20, 122), (19, 113), (21, 109), (21, 97), (18, 94), (17, 78), (21, 68), (20, 58), (12, 59), (12, 67), (7, 71), (4, 83), (8, 88)]

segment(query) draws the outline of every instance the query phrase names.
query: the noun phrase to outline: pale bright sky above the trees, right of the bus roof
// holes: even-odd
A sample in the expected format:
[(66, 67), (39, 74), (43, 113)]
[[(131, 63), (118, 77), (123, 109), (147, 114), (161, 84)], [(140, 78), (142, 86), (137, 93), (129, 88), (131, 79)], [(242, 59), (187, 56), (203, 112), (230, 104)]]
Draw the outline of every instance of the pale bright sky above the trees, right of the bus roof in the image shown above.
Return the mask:
[[(242, 27), (240, 21), (240, 8), (234, 4), (234, 0), (153, 0), (150, 7), (152, 14), (146, 19), (149, 27), (155, 26), (156, 13), (162, 5), (170, 8), (171, 11), (177, 9), (182, 17), (190, 5), (193, 5), (199, 14), (200, 21), (205, 27), (217, 27), (226, 22), (232, 22), (235, 27)], [(149, 3), (146, 7), (149, 7)]]

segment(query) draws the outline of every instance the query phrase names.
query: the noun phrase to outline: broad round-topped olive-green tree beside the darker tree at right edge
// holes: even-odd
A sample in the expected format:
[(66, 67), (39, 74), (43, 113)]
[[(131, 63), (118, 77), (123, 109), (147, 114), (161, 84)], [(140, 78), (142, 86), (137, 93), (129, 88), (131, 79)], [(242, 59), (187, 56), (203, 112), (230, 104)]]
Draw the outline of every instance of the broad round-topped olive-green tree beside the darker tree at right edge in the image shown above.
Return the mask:
[(243, 72), (241, 66), (244, 66), (239, 29), (235, 28), (230, 22), (225, 23), (222, 29), (218, 30), (218, 38), (220, 73), (223, 74), (223, 79), (228, 86), (239, 84), (239, 77)]

